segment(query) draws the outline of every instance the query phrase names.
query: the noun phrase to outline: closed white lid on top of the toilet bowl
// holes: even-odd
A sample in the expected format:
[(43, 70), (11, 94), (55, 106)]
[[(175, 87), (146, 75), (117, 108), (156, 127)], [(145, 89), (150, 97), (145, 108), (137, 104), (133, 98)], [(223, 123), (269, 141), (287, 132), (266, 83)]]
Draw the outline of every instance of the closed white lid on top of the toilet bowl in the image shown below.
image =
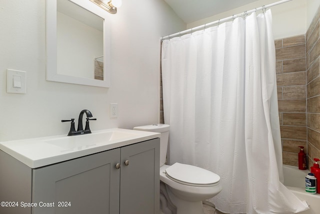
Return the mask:
[(165, 172), (171, 180), (191, 186), (214, 186), (220, 180), (219, 175), (209, 170), (182, 163), (174, 163)]

